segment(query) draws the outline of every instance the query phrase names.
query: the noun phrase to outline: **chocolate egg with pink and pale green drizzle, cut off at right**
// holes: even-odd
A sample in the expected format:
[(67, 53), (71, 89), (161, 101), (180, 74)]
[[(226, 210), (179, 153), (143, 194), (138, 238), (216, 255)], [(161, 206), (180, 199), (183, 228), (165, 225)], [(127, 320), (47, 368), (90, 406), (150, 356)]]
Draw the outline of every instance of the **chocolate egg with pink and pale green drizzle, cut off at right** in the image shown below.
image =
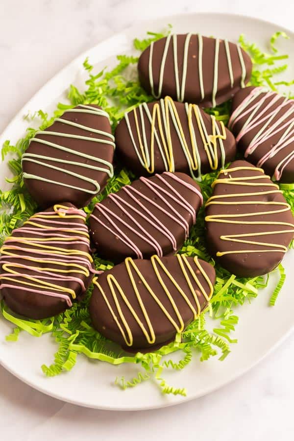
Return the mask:
[(294, 100), (264, 87), (233, 98), (229, 128), (245, 158), (275, 181), (294, 182)]

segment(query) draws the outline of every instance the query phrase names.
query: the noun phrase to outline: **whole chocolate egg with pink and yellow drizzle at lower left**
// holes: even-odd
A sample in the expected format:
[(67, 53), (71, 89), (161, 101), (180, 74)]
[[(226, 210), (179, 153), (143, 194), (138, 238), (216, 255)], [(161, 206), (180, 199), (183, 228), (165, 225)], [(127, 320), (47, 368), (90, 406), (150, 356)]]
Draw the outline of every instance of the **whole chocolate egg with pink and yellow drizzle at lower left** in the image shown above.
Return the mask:
[(0, 249), (0, 294), (16, 314), (45, 319), (65, 311), (92, 279), (86, 215), (56, 204), (16, 228)]

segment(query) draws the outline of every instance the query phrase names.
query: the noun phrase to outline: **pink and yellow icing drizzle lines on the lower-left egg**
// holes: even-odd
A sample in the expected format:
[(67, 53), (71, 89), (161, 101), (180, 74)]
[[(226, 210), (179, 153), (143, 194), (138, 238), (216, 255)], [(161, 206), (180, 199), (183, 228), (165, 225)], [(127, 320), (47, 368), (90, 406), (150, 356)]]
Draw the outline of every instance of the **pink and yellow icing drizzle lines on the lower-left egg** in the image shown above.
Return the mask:
[[(6, 241), (3, 245), (3, 247), (9, 247), (9, 251), (13, 251), (13, 250), (18, 250), (18, 251), (23, 251), (25, 252), (24, 254), (19, 254), (19, 255), (5, 255), (2, 254), (0, 256), (0, 265), (3, 266), (5, 265), (6, 270), (8, 268), (13, 268), (14, 271), (16, 271), (16, 274), (10, 273), (10, 272), (5, 272), (0, 274), (0, 280), (3, 277), (7, 277), (9, 278), (11, 281), (14, 282), (15, 278), (24, 278), (27, 279), (28, 281), (30, 280), (30, 277), (33, 277), (36, 279), (36, 281), (31, 281), (32, 286), (28, 286), (26, 287), (25, 285), (22, 285), (21, 283), (18, 285), (16, 284), (12, 284), (12, 283), (7, 283), (6, 281), (1, 281), (1, 285), (0, 285), (0, 290), (3, 288), (11, 288), (11, 289), (19, 289), (22, 291), (29, 291), (29, 292), (33, 292), (33, 293), (37, 293), (37, 294), (42, 294), (42, 295), (49, 295), (49, 296), (53, 296), (53, 297), (59, 297), (63, 300), (65, 300), (67, 302), (67, 305), (69, 307), (72, 306), (72, 299), (70, 297), (69, 294), (63, 294), (62, 291), (60, 292), (56, 292), (56, 291), (51, 291), (50, 289), (47, 290), (46, 289), (46, 285), (44, 285), (44, 290), (42, 289), (35, 289), (33, 287), (34, 284), (37, 284), (37, 280), (49, 280), (52, 281), (53, 279), (57, 279), (60, 281), (67, 281), (67, 282), (76, 282), (80, 285), (81, 290), (85, 291), (85, 285), (83, 280), (81, 280), (79, 277), (74, 277), (73, 275), (71, 275), (71, 273), (58, 273), (55, 272), (54, 269), (52, 269), (52, 271), (49, 270), (41, 270), (38, 267), (34, 267), (34, 266), (30, 266), (25, 265), (25, 264), (14, 264), (13, 262), (11, 262), (12, 259), (18, 259), (18, 260), (25, 260), (25, 261), (30, 261), (30, 262), (37, 262), (38, 256), (40, 255), (40, 258), (45, 261), (45, 262), (54, 262), (51, 263), (51, 265), (56, 265), (56, 266), (60, 266), (61, 269), (64, 269), (66, 267), (64, 267), (61, 264), (65, 264), (66, 266), (68, 264), (71, 264), (73, 266), (71, 267), (67, 267), (67, 271), (69, 270), (80, 270), (77, 268), (77, 265), (84, 267), (85, 269), (87, 268), (88, 270), (92, 271), (92, 266), (91, 266), (91, 262), (89, 261), (87, 256), (83, 256), (83, 255), (77, 255), (77, 254), (72, 254), (72, 255), (66, 255), (66, 254), (58, 254), (58, 253), (54, 253), (54, 249), (48, 249), (46, 250), (46, 248), (38, 248), (38, 246), (34, 247), (34, 244), (41, 244), (41, 245), (60, 245), (56, 247), (56, 251), (60, 252), (60, 249), (63, 248), (64, 245), (86, 245), (88, 250), (90, 250), (90, 241), (89, 238), (86, 236), (83, 236), (81, 234), (81, 236), (77, 235), (78, 232), (80, 231), (82, 232), (87, 232), (88, 233), (88, 229), (86, 227), (86, 225), (84, 224), (80, 224), (78, 222), (74, 222), (71, 220), (68, 221), (57, 221), (57, 220), (50, 220), (50, 219), (46, 219), (46, 218), (42, 218), (40, 216), (56, 216), (56, 215), (61, 216), (62, 218), (66, 218), (67, 215), (78, 215), (83, 217), (84, 219), (86, 218), (86, 214), (82, 211), (82, 210), (78, 210), (76, 208), (70, 207), (68, 209), (63, 209), (63, 208), (58, 208), (57, 212), (52, 211), (52, 212), (42, 212), (42, 213), (38, 213), (35, 217), (32, 217), (29, 219), (29, 221), (38, 223), (38, 222), (42, 222), (42, 225), (45, 226), (44, 231), (41, 229), (41, 227), (38, 226), (33, 226), (30, 224), (27, 224), (28, 226), (24, 226), (22, 228), (17, 228), (16, 230), (14, 230), (14, 233), (29, 233), (30, 235), (32, 235), (31, 237), (26, 237), (25, 240), (27, 241), (25, 245), (28, 245), (28, 247), (24, 247), (23, 246), (23, 242), (20, 240), (23, 238), (23, 236), (13, 236), (11, 238), (9, 238), (8, 241)], [(62, 225), (62, 227), (48, 227), (46, 225), (46, 223), (49, 224), (54, 224), (54, 225)], [(67, 231), (69, 230), (69, 231)], [(71, 231), (73, 232), (73, 230), (75, 231), (76, 235), (73, 236), (71, 235)], [(52, 240), (50, 241), (39, 241), (37, 239), (38, 236), (43, 236), (43, 237), (51, 237)], [(53, 237), (52, 237), (53, 236)], [(58, 240), (58, 238), (68, 238), (68, 241), (61, 241)], [(55, 240), (57, 239), (57, 240)], [(13, 243), (16, 243), (19, 245), (11, 245)], [(53, 246), (54, 248), (54, 246)], [(60, 248), (60, 249), (58, 249)], [(68, 250), (68, 251), (71, 251)], [(30, 256), (28, 253), (32, 252), (35, 257)], [(47, 257), (44, 257), (47, 256)], [(54, 260), (54, 258), (56, 258), (56, 260)], [(49, 263), (50, 265), (50, 263)], [(74, 268), (74, 266), (76, 266), (76, 268)], [(29, 275), (25, 272), (20, 272), (17, 269), (23, 269), (25, 270), (30, 270), (30, 271), (34, 271), (33, 274)], [(92, 272), (95, 272), (94, 270)], [(56, 282), (52, 282), (54, 285), (57, 285)], [(58, 286), (58, 285), (57, 285)], [(49, 287), (50, 288), (50, 287)]]

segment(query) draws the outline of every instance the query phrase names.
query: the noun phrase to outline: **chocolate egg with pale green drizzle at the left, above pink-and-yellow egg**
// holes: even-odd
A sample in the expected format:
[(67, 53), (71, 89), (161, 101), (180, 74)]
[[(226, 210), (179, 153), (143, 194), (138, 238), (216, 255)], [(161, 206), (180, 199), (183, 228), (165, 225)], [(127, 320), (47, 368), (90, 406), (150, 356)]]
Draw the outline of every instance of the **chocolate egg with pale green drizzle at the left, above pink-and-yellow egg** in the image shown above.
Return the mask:
[(114, 137), (108, 114), (94, 104), (67, 109), (30, 140), (22, 158), (25, 185), (44, 208), (84, 207), (113, 176)]

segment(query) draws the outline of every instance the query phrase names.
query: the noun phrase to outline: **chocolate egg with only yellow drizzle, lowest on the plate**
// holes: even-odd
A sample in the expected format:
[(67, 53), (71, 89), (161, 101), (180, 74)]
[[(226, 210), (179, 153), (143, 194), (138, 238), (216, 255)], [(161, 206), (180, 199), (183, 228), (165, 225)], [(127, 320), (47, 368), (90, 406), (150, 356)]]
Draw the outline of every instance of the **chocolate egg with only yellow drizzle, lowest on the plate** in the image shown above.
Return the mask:
[(126, 350), (155, 350), (199, 316), (214, 283), (214, 268), (197, 257), (128, 257), (94, 279), (93, 326)]

